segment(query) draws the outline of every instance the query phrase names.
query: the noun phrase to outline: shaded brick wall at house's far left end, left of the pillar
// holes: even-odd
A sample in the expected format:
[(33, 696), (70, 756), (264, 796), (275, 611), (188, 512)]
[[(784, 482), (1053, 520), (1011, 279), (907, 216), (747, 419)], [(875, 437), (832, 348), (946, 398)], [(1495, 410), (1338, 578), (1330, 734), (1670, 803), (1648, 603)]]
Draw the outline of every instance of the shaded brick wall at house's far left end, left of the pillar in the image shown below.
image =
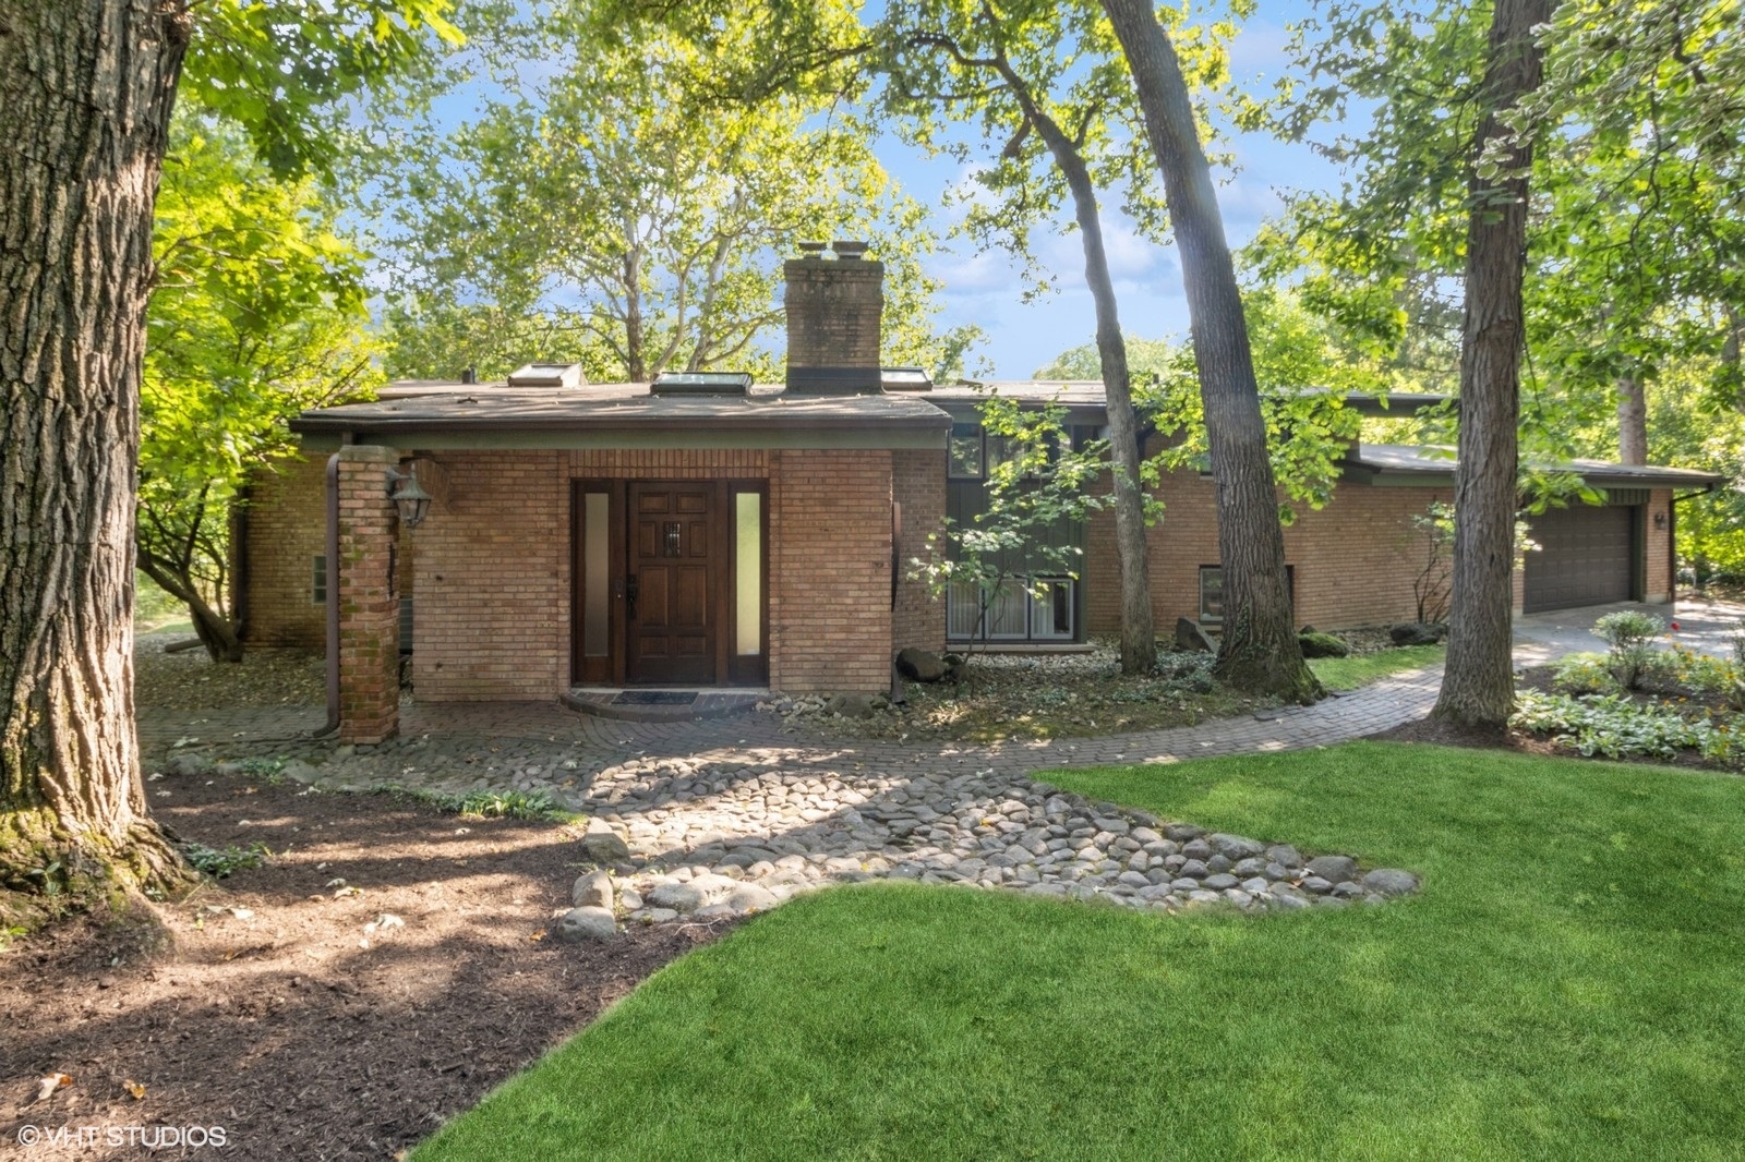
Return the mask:
[(248, 504), (248, 642), (323, 649), (326, 607), (312, 600), (326, 553), (326, 462), (314, 454), (260, 473)]

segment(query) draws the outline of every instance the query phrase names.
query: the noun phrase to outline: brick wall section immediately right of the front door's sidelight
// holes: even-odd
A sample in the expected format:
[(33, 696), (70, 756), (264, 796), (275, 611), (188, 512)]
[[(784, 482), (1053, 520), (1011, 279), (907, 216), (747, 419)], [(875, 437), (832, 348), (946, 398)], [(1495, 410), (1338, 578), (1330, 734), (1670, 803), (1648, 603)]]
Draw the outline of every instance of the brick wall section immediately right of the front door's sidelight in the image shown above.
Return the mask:
[(890, 687), (890, 452), (771, 452), (771, 689)]

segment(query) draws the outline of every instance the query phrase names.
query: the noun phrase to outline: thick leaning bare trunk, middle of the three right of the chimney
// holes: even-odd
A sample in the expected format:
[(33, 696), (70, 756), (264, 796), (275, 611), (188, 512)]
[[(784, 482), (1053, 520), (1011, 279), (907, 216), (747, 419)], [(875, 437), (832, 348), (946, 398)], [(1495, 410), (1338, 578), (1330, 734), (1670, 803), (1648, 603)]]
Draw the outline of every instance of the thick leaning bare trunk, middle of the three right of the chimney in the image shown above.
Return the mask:
[(1304, 661), (1284, 572), (1279, 490), (1248, 349), (1248, 323), (1211, 166), (1174, 45), (1150, 0), (1103, 0), (1139, 91), (1145, 131), (1164, 174), (1164, 199), (1194, 325), (1201, 401), (1218, 489), (1218, 555), (1225, 619), (1216, 673), (1237, 689), (1314, 701), (1321, 684)]

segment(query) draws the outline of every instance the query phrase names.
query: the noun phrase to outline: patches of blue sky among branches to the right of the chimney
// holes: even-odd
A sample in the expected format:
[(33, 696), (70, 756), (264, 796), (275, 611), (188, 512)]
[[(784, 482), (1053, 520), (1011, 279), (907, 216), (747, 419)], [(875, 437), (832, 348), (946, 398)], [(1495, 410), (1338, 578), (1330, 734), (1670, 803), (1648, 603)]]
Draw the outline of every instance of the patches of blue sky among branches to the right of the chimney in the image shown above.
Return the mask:
[[(1270, 87), (1284, 70), (1284, 24), (1302, 16), (1305, 7), (1267, 5), (1267, 12), (1242, 24), (1232, 44), (1232, 77), (1239, 84)], [(1235, 171), (1222, 171), (1216, 178), (1232, 248), (1249, 241), (1262, 220), (1279, 209), (1281, 188), (1338, 187), (1338, 171), (1307, 145), (1242, 134), (1230, 141), (1230, 148)], [(944, 190), (965, 176), (960, 162), (925, 159), (897, 141), (883, 141), (879, 159), (913, 197), (935, 208)], [(1105, 234), (1122, 330), (1141, 338), (1187, 335), (1187, 300), (1174, 248), (1146, 243), (1119, 213), (1106, 209)], [(1023, 302), (1017, 272), (1000, 253), (979, 255), (956, 241), (951, 253), (937, 255), (928, 263), (928, 272), (944, 283), (941, 319), (948, 325), (977, 323), (988, 333), (981, 354), (993, 363), (996, 379), (1028, 379), (1061, 351), (1092, 338), (1096, 321), (1091, 295), (1084, 290), (1078, 236), (1038, 239), (1038, 253), (1059, 274), (1061, 291), (1037, 304)]]

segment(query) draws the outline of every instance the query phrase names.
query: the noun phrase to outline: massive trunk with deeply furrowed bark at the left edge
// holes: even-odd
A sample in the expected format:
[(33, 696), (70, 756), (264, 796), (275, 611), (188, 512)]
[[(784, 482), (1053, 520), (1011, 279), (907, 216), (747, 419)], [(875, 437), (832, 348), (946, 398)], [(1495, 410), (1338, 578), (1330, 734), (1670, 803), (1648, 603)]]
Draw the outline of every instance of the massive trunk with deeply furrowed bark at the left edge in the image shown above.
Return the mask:
[[(0, 886), (181, 865), (133, 724), (133, 490), (180, 3), (0, 0)], [(52, 871), (51, 871), (52, 869)]]

